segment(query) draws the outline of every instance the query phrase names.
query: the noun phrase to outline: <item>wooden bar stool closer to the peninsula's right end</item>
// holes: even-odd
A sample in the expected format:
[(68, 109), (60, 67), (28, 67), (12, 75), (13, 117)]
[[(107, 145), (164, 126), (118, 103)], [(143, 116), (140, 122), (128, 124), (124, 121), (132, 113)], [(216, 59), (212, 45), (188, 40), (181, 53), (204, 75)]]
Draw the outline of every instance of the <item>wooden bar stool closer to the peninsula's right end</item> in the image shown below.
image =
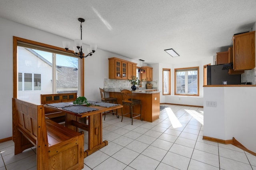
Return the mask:
[[(132, 99), (132, 91), (130, 90), (121, 90), (121, 95), (122, 95), (122, 104), (125, 106), (129, 106), (130, 112), (123, 114), (123, 108), (121, 108), (122, 111), (122, 120), (123, 121), (123, 116), (130, 114), (130, 118), (132, 118), (132, 123), (133, 123), (133, 118), (140, 117), (140, 120), (143, 121), (143, 118), (141, 118), (141, 101), (139, 99)], [(132, 107), (140, 105), (140, 114), (138, 113), (133, 113), (132, 112)], [(135, 115), (135, 116), (134, 116)]]

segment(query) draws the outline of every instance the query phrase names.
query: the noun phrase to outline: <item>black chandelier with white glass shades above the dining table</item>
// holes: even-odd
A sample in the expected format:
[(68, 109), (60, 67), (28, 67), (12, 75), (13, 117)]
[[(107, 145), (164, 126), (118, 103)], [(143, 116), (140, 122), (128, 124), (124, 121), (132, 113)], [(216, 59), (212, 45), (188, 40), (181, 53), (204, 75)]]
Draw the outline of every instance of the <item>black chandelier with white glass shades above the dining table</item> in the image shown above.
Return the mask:
[(78, 21), (81, 23), (80, 24), (80, 31), (81, 31), (81, 40), (80, 39), (75, 39), (75, 45), (76, 47), (73, 47), (74, 51), (68, 49), (70, 46), (70, 42), (67, 41), (63, 41), (63, 46), (66, 49), (66, 51), (69, 51), (71, 53), (73, 53), (74, 55), (76, 55), (76, 57), (79, 57), (80, 59), (82, 58), (86, 58), (89, 55), (92, 56), (92, 53), (94, 53), (97, 49), (97, 45), (96, 44), (91, 44), (90, 47), (88, 48), (88, 54), (84, 56), (84, 53), (82, 51), (82, 22), (84, 22), (85, 20), (83, 18), (78, 18)]

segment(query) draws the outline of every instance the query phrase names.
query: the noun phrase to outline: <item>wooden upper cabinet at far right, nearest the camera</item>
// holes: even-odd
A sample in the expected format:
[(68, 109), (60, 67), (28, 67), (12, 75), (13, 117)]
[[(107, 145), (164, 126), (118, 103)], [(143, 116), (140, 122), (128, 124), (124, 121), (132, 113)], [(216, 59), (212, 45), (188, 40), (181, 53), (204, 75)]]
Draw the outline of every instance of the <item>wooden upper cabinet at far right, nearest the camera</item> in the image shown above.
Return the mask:
[(234, 35), (233, 69), (249, 70), (255, 67), (255, 31)]

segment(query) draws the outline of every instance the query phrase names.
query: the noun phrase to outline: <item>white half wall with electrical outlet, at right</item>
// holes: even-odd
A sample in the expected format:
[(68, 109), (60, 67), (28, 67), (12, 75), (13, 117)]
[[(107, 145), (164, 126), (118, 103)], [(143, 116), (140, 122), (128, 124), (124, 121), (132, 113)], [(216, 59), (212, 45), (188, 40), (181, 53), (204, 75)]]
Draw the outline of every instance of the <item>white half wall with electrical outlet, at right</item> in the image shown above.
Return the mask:
[[(204, 87), (204, 136), (234, 137), (256, 152), (255, 96), (256, 87)], [(206, 101), (217, 107), (207, 107)]]

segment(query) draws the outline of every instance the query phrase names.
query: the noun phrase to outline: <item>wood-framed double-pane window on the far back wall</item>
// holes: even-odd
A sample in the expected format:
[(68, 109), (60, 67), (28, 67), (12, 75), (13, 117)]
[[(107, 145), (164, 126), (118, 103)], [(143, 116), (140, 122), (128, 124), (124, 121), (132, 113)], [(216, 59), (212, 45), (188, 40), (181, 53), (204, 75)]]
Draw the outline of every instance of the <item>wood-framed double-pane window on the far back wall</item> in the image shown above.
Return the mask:
[(199, 96), (199, 67), (174, 69), (175, 95)]

